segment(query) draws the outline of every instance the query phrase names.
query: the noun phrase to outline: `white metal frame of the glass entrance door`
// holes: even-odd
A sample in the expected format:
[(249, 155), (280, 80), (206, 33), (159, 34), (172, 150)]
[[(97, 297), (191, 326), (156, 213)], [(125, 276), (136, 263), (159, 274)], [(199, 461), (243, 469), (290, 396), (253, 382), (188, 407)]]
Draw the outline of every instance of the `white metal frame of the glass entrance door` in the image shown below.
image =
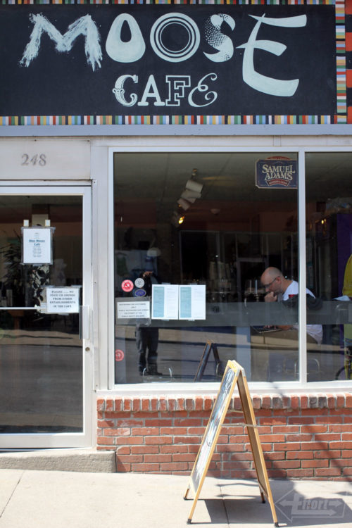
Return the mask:
[(92, 342), (92, 187), (91, 182), (2, 182), (0, 195), (82, 196), (82, 304), (88, 307), (89, 327), (82, 339), (83, 431), (80, 433), (0, 434), (1, 449), (92, 446), (94, 349)]

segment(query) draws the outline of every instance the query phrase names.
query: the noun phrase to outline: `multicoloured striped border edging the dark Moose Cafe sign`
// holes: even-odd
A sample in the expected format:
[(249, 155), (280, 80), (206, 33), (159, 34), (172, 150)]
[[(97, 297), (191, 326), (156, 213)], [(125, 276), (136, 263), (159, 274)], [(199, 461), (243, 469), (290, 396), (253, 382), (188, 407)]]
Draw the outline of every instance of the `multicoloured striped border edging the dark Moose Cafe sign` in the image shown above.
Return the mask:
[[(347, 102), (352, 87), (352, 70), (346, 69), (346, 12), (352, 0), (0, 0), (3, 5), (70, 4), (176, 4), (176, 5), (334, 5), (337, 51), (337, 112), (335, 115), (7, 115), (0, 126), (18, 125), (333, 125), (352, 122), (352, 106)], [(352, 34), (347, 42), (352, 42)], [(352, 94), (351, 94), (352, 95)], [(352, 103), (352, 97), (351, 97)]]

